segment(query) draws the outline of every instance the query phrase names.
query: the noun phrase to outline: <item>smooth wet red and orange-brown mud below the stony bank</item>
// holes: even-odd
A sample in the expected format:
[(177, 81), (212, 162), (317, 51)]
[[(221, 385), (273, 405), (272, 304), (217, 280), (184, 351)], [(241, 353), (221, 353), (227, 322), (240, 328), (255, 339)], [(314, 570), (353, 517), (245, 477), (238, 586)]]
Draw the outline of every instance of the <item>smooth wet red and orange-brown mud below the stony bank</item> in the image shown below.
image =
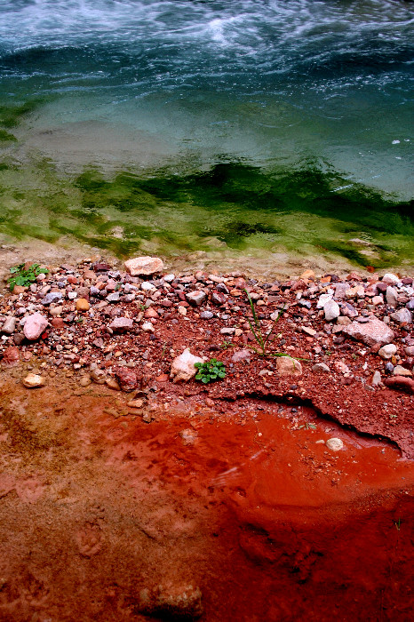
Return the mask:
[(208, 622), (410, 619), (414, 472), (391, 444), (302, 406), (178, 396), (148, 424), (55, 387), (0, 387), (2, 622), (191, 619), (154, 595), (188, 586)]

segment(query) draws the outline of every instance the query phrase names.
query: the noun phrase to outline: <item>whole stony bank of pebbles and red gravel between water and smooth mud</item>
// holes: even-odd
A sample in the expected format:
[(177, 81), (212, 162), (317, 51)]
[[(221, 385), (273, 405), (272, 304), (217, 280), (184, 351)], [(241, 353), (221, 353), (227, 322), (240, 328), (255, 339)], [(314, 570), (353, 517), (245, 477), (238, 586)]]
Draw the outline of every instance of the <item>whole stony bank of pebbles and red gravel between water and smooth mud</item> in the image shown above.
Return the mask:
[[(4, 283), (4, 378), (57, 390), (64, 378), (77, 392), (105, 385), (122, 396), (115, 417), (148, 423), (194, 399), (218, 411), (247, 396), (312, 405), (320, 417), (414, 456), (412, 277), (307, 270), (264, 283), (241, 272), (165, 274), (157, 258), (132, 259), (122, 270), (101, 258), (47, 268), (29, 287), (9, 292)], [(264, 356), (246, 291), (264, 334), (283, 310)], [(194, 368), (172, 379), (171, 364), (187, 348), (225, 363), (226, 378), (203, 385)]]

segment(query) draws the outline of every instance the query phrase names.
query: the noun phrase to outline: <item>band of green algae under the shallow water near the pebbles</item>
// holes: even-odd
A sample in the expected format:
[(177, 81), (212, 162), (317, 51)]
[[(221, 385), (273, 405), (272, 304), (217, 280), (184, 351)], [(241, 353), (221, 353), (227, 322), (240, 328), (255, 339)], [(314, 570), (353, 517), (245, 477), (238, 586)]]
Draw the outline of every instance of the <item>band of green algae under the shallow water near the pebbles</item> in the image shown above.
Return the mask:
[[(326, 163), (266, 171), (233, 162), (112, 177), (90, 168), (70, 178), (46, 160), (5, 162), (0, 232), (50, 242), (73, 237), (121, 258), (219, 250), (320, 254), (357, 266), (412, 262), (413, 203), (349, 186)], [(355, 246), (353, 238), (366, 244)]]

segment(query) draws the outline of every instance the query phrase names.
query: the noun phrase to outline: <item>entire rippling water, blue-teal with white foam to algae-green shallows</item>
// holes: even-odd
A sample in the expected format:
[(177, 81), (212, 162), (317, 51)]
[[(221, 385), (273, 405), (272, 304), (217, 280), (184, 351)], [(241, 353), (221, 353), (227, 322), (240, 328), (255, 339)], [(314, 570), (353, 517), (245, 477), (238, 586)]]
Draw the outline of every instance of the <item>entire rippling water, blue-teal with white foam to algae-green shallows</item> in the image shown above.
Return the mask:
[(412, 9), (3, 0), (0, 233), (412, 261)]

